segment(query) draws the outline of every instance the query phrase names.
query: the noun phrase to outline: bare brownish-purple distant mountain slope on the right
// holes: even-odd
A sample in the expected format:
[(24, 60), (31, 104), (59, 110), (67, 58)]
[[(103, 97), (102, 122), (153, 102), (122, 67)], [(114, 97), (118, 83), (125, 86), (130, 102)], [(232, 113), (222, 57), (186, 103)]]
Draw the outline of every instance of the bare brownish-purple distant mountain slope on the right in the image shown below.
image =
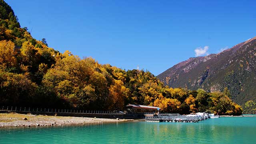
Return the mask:
[(256, 37), (218, 54), (189, 58), (159, 74), (170, 87), (208, 92), (228, 88), (232, 99), (244, 104), (256, 98)]

